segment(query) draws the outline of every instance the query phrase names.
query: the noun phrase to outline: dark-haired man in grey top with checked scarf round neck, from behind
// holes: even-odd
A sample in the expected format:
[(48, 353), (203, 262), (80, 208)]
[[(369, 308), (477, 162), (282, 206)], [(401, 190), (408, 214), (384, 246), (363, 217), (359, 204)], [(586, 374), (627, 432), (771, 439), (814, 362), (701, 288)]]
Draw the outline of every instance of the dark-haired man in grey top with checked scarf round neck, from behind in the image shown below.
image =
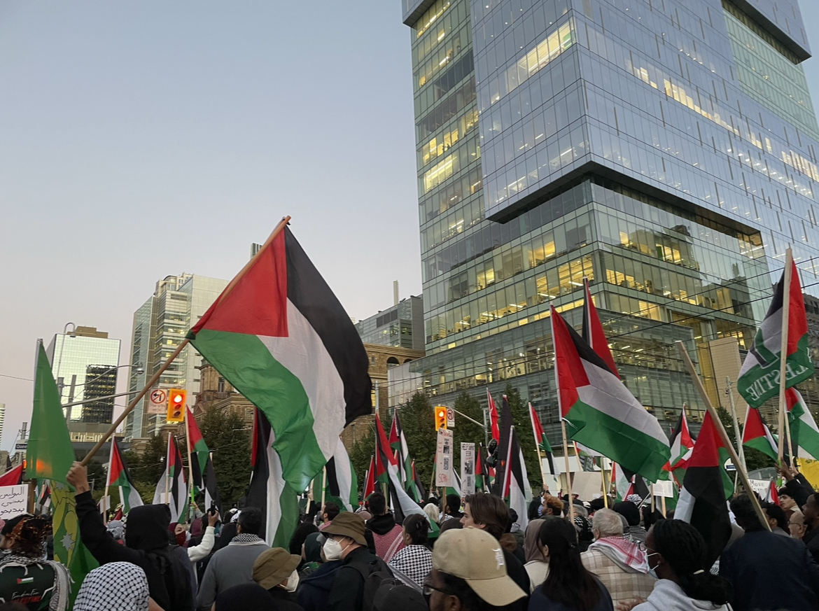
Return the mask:
[(233, 586), (252, 582), (253, 563), (269, 545), (259, 538), (262, 514), (256, 507), (239, 513), (233, 541), (210, 558), (197, 595), (197, 606), (210, 609), (217, 595)]

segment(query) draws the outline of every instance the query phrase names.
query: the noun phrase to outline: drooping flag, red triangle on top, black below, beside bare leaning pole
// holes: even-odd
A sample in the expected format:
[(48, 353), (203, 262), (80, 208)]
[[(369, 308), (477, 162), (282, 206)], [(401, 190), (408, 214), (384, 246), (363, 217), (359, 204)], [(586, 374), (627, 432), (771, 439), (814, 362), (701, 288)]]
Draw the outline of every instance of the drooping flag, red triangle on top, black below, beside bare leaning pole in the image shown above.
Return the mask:
[(708, 545), (707, 567), (717, 560), (731, 536), (726, 500), (734, 493), (734, 484), (723, 466), (727, 459), (728, 450), (710, 412), (706, 412), (688, 461), (674, 518), (690, 523), (703, 536)]

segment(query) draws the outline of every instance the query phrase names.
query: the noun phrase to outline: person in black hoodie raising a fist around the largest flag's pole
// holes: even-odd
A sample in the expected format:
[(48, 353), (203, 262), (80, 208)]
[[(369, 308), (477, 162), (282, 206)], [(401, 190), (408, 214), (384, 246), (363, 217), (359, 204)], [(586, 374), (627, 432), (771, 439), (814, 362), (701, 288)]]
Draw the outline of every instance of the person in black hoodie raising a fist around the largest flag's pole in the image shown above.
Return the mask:
[(196, 577), (186, 551), (174, 550), (170, 545), (168, 505), (133, 507), (128, 513), (125, 545), (120, 545), (102, 523), (102, 515), (88, 486), (88, 469), (75, 462), (66, 480), (76, 491), (79, 536), (97, 562), (136, 564), (145, 572), (151, 598), (162, 609), (193, 609), (192, 584)]

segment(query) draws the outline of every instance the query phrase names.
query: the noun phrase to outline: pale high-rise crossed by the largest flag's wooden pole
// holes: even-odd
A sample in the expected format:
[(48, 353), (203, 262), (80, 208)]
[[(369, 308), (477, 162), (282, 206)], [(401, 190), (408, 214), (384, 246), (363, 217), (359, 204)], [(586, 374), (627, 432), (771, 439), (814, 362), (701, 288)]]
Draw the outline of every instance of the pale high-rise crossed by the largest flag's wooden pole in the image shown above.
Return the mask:
[[(188, 329), (205, 314), (227, 280), (195, 274), (167, 276), (156, 283), (156, 290), (133, 313), (131, 364), (143, 365), (143, 372), (131, 369), (129, 391), (138, 391), (161, 367), (188, 333)], [(184, 388), (193, 403), (199, 391), (201, 355), (187, 346), (159, 378), (158, 388)], [(151, 437), (165, 424), (165, 410), (149, 414), (146, 396), (125, 419), (125, 438)]]

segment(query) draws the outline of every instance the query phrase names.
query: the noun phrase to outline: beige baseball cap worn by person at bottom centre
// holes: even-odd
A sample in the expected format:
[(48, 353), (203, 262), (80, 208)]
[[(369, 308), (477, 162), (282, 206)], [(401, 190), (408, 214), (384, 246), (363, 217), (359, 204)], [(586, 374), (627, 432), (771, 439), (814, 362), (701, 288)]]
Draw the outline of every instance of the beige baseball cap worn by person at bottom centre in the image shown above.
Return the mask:
[(493, 607), (526, 597), (526, 592), (506, 574), (504, 550), (498, 540), (478, 528), (442, 533), (432, 550), (432, 567), (460, 577)]

